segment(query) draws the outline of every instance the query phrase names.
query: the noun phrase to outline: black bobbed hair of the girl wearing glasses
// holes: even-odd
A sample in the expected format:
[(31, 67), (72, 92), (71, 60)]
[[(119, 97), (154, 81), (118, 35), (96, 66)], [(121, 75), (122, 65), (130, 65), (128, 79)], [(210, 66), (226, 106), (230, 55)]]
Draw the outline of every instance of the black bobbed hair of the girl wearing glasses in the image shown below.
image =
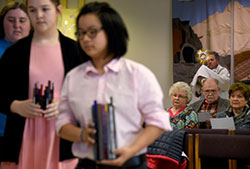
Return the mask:
[[(102, 29), (108, 37), (108, 54), (113, 58), (120, 58), (127, 52), (128, 31), (121, 16), (106, 2), (91, 2), (82, 7), (76, 19), (79, 28), (79, 19), (86, 14), (95, 14), (102, 23)], [(84, 61), (91, 58), (81, 49), (79, 40), (78, 48)]]

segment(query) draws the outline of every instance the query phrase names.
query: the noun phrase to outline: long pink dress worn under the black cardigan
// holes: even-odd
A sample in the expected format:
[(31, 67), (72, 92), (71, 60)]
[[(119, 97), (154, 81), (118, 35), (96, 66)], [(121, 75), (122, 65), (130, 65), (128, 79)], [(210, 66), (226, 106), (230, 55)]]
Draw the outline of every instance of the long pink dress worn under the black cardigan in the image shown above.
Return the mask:
[[(29, 99), (33, 96), (35, 83), (47, 86), (54, 83), (54, 101), (59, 101), (64, 79), (61, 47), (57, 45), (31, 45)], [(44, 87), (43, 87), (44, 88)], [(18, 166), (3, 163), (1, 169), (74, 169), (78, 160), (59, 162), (59, 137), (55, 129), (56, 119), (44, 117), (27, 118)]]

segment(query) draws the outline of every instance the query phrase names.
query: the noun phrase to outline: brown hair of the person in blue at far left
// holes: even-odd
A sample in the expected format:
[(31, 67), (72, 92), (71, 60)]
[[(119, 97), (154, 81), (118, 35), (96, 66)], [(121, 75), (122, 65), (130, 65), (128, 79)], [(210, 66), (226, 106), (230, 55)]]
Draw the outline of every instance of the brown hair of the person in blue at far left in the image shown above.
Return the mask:
[[(6, 14), (10, 10), (18, 9), (18, 8), (20, 8), (21, 10), (23, 10), (27, 14), (27, 7), (23, 3), (20, 3), (20, 2), (10, 2), (7, 5), (5, 5), (3, 7), (3, 9), (1, 10), (1, 13), (0, 13), (0, 38), (4, 38), (4, 36), (5, 36), (3, 22), (4, 22), (4, 18), (6, 16)], [(27, 14), (27, 16), (28, 16), (28, 14)]]

